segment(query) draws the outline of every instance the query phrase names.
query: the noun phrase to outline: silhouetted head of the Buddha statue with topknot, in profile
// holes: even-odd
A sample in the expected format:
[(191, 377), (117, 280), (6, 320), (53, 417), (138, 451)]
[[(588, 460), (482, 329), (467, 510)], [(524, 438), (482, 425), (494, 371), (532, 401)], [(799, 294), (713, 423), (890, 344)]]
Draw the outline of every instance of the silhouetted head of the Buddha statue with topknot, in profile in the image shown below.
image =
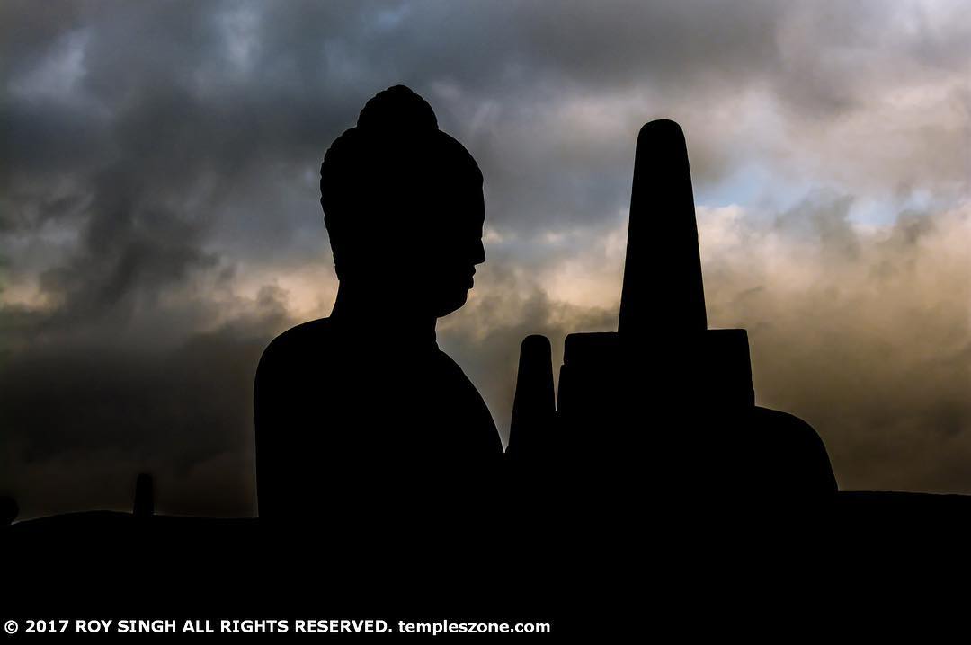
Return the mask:
[(485, 261), (483, 176), (411, 89), (380, 92), (330, 146), (320, 206), (342, 286), (436, 317), (465, 304)]

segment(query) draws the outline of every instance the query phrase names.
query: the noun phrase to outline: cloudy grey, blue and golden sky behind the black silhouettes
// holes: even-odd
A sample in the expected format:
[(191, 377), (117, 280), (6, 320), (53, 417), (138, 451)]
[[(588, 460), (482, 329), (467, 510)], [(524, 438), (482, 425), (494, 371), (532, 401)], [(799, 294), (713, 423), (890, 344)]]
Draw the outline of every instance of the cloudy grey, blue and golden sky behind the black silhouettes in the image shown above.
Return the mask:
[(485, 175), (439, 339), (504, 432), (524, 335), (615, 327), (634, 139), (667, 116), (758, 402), (844, 488), (971, 493), (962, 5), (4, 0), (0, 489), (124, 508), (148, 469), (164, 511), (254, 512), (256, 361), (336, 288), (320, 159), (404, 82)]

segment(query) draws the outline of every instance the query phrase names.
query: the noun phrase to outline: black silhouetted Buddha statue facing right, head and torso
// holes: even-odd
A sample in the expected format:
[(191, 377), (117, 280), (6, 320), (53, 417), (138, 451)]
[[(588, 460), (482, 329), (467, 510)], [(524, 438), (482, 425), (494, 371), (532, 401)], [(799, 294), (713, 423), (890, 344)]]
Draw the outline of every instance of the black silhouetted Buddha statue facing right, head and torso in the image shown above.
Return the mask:
[(260, 516), (397, 512), (485, 489), (502, 444), (435, 339), (485, 261), (479, 167), (397, 85), (327, 150), (320, 193), (340, 286), (330, 317), (286, 331), (260, 359)]

